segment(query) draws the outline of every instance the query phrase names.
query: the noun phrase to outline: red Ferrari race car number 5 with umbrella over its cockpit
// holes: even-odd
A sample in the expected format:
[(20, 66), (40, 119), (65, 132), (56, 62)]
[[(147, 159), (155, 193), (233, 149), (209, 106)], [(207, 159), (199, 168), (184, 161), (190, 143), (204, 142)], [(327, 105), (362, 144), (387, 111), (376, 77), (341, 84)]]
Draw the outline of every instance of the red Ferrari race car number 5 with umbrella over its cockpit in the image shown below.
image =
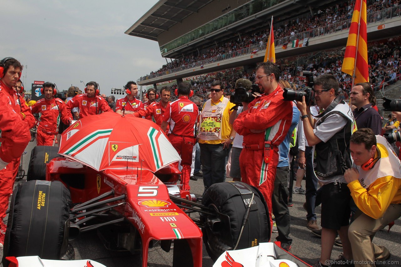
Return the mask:
[[(267, 206), (256, 188), (215, 184), (197, 203), (177, 184), (179, 160), (152, 121), (110, 112), (80, 119), (64, 131), (60, 148), (32, 150), (27, 182), (13, 192), (3, 265), (7, 257), (33, 255), (73, 260), (69, 241), (93, 230), (108, 249), (139, 254), (142, 266), (155, 242), (173, 247), (173, 266), (201, 267), (203, 243), (216, 261), (269, 241)], [(275, 250), (277, 258), (309, 266)]]

